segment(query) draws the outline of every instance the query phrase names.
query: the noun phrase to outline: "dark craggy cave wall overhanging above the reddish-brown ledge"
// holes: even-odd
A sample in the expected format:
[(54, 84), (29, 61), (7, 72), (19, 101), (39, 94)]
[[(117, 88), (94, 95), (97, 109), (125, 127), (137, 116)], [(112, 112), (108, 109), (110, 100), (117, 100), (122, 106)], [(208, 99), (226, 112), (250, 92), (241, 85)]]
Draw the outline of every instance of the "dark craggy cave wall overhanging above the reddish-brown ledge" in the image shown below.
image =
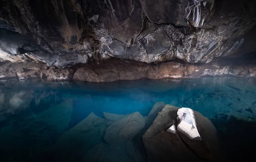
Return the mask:
[(255, 8), (255, 0), (0, 0), (0, 58), (208, 63), (255, 50), (244, 45), (256, 40), (247, 34)]

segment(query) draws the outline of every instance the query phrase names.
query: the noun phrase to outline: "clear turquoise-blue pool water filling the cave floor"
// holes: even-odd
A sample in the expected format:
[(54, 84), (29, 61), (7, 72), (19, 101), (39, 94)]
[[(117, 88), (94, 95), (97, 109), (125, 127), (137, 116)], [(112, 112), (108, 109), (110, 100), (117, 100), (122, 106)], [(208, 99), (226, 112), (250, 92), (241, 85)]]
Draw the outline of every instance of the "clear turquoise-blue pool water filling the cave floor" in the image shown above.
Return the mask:
[[(40, 80), (0, 81), (0, 161), (146, 161), (142, 134), (125, 144), (105, 143), (108, 123), (103, 112), (140, 112), (146, 117), (157, 102), (189, 107), (208, 117), (231, 161), (253, 155), (256, 79)], [(91, 112), (102, 124), (94, 122), (92, 129), (80, 131), (79, 124)]]

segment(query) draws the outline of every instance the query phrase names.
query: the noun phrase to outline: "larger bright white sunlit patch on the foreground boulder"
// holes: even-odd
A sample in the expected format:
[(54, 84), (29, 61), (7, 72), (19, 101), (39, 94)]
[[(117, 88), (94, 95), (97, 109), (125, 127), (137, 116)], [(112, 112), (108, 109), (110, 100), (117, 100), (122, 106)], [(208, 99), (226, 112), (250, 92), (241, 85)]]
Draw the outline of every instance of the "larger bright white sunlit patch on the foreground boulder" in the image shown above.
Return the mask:
[(192, 109), (181, 108), (177, 111), (177, 129), (184, 135), (193, 140), (201, 140), (201, 136), (198, 132), (195, 114)]

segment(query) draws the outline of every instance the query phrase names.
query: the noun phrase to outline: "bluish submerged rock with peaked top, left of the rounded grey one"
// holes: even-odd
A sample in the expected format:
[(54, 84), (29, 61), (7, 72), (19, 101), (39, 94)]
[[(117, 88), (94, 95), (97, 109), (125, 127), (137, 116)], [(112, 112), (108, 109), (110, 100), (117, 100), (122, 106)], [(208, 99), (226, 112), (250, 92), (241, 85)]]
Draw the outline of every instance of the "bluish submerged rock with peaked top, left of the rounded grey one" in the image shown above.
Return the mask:
[(88, 149), (102, 141), (106, 122), (107, 120), (97, 117), (93, 112), (90, 113), (58, 139), (54, 147), (55, 154), (62, 162), (77, 162)]

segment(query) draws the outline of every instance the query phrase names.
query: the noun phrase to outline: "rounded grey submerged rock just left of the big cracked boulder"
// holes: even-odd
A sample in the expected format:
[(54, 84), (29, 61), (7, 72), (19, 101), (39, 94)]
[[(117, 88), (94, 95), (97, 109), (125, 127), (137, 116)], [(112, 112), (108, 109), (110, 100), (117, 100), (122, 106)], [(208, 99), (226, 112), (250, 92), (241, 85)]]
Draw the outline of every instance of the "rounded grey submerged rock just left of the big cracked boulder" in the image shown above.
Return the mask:
[(139, 112), (126, 115), (111, 123), (105, 131), (104, 140), (112, 145), (133, 139), (145, 126), (145, 117)]

